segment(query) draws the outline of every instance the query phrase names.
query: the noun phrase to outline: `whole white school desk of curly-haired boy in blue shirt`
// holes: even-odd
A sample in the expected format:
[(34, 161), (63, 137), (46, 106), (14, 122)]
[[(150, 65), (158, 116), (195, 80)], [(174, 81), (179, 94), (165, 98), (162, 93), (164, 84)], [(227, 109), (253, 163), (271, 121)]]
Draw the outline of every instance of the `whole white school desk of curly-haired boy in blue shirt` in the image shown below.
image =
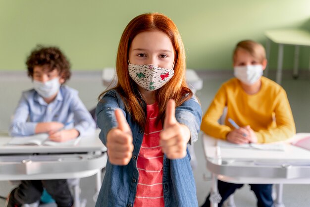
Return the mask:
[[(82, 137), (76, 146), (5, 146), (10, 137), (0, 134), (0, 180), (43, 180), (83, 178), (97, 174), (96, 193), (101, 188), (101, 169), (106, 165), (106, 148), (100, 130)], [(79, 186), (74, 188), (74, 205), (80, 207)]]

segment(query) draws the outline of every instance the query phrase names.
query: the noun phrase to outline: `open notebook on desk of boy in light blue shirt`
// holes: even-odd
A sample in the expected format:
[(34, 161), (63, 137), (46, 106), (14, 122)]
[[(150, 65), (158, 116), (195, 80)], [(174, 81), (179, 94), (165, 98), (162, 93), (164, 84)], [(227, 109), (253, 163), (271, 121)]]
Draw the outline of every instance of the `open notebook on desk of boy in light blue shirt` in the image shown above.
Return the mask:
[(46, 133), (24, 137), (12, 137), (6, 145), (38, 145), (38, 146), (74, 146), (79, 143), (80, 137), (66, 142), (54, 142)]

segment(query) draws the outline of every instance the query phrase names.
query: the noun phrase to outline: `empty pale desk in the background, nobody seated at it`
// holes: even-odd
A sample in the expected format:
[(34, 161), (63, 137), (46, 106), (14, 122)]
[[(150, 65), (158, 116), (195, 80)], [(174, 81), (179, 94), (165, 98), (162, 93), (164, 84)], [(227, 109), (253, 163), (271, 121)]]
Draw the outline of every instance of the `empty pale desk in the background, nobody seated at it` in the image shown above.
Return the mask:
[[(294, 58), (294, 68), (293, 77), (298, 77), (298, 58), (299, 58), (299, 47), (300, 46), (310, 46), (310, 32), (301, 29), (279, 29), (279, 30), (268, 30), (265, 32), (267, 37), (266, 43), (266, 55), (269, 60), (270, 55), (270, 42), (274, 42), (279, 45), (278, 49), (278, 66), (276, 73), (276, 82), (281, 84), (282, 79), (282, 66), (283, 66), (283, 51), (284, 45), (295, 46), (295, 58)], [(267, 71), (265, 72), (267, 76)]]

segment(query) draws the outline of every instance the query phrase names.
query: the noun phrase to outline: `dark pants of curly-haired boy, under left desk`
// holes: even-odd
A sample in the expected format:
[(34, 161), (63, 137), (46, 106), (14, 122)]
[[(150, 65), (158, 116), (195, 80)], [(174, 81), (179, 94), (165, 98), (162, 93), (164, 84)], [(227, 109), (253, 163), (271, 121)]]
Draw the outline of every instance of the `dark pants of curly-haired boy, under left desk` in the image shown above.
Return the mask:
[(67, 180), (23, 180), (17, 188), (12, 190), (8, 207), (40, 201), (43, 188), (55, 200), (57, 207), (71, 207), (73, 205)]

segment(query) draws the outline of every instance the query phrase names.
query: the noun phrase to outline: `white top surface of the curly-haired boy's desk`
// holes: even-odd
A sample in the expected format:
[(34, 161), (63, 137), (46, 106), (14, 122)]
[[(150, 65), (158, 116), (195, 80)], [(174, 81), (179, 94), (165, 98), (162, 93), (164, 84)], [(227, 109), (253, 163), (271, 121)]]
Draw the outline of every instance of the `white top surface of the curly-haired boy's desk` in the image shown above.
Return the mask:
[(80, 153), (106, 151), (106, 147), (99, 139), (100, 129), (92, 135), (82, 137), (80, 142), (75, 146), (6, 146), (10, 138), (3, 133), (0, 134), (0, 154), (29, 154), (29, 153)]

